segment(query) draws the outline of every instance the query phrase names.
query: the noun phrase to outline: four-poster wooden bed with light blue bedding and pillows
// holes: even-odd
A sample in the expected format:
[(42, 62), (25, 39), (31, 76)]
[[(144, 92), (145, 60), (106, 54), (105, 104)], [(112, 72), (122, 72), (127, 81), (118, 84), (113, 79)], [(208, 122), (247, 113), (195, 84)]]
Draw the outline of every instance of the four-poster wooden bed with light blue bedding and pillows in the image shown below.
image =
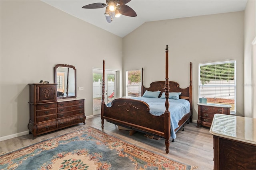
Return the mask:
[[(192, 122), (192, 80), (190, 63), (190, 85), (180, 88), (177, 82), (168, 78), (168, 45), (166, 45), (165, 81), (152, 82), (149, 88), (143, 86), (140, 98), (117, 98), (105, 104), (105, 61), (103, 60), (101, 123), (106, 121), (165, 139), (166, 153), (169, 153), (170, 137), (190, 120)], [(181, 92), (181, 93), (180, 93)], [(160, 103), (156, 103), (160, 100)], [(156, 107), (155, 107), (156, 106)], [(169, 107), (170, 106), (170, 107)], [(183, 127), (184, 128), (184, 127)], [(184, 129), (183, 129), (184, 130)]]

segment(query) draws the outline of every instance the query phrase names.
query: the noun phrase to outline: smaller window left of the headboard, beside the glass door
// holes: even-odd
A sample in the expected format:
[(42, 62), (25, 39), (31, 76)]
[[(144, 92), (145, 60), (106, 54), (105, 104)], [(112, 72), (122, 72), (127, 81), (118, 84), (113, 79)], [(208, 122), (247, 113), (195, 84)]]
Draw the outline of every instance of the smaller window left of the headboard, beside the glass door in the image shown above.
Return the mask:
[(141, 70), (126, 71), (126, 96), (141, 96)]

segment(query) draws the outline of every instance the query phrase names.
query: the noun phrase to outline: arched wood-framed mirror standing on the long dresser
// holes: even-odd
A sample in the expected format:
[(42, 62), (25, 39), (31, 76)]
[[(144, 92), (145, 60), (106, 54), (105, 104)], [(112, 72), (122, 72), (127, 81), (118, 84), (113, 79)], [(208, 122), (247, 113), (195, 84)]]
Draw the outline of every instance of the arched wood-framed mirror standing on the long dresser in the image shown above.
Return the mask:
[(57, 98), (76, 98), (76, 68), (68, 64), (54, 67), (54, 83), (57, 83)]

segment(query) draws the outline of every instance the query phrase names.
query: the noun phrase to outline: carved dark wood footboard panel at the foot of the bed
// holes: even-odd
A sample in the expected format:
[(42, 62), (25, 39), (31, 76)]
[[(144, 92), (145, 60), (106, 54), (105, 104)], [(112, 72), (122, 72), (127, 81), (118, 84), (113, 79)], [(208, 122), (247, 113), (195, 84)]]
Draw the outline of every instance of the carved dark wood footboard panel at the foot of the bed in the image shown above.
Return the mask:
[(161, 116), (150, 114), (150, 107), (146, 102), (118, 98), (112, 101), (111, 107), (106, 105), (103, 107), (103, 119), (107, 121), (164, 137), (164, 114)]

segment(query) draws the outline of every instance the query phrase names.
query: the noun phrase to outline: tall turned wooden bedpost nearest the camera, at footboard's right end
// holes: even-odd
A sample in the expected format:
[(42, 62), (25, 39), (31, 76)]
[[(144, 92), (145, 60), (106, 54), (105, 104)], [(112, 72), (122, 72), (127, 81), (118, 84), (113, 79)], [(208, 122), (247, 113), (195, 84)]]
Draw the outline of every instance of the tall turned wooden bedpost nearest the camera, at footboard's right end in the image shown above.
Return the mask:
[(170, 146), (170, 136), (171, 136), (171, 125), (170, 125), (170, 111), (169, 111), (169, 91), (170, 91), (170, 83), (169, 83), (169, 77), (168, 77), (168, 45), (166, 45), (166, 51), (165, 51), (165, 112), (164, 112), (164, 138), (165, 138), (165, 151), (166, 153), (169, 153), (169, 146)]

